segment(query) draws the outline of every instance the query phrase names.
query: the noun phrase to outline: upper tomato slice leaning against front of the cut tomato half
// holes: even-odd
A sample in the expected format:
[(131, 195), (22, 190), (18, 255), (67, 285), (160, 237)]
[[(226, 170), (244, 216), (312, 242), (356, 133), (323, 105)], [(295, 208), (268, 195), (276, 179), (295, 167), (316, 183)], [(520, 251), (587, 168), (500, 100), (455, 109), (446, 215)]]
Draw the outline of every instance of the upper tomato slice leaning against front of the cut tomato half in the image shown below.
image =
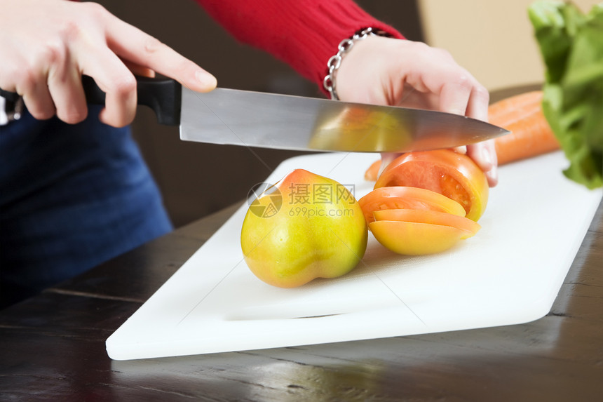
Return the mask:
[(374, 222), (374, 211), (384, 209), (435, 210), (465, 216), (465, 209), (447, 196), (419, 187), (381, 187), (358, 200), (367, 223)]

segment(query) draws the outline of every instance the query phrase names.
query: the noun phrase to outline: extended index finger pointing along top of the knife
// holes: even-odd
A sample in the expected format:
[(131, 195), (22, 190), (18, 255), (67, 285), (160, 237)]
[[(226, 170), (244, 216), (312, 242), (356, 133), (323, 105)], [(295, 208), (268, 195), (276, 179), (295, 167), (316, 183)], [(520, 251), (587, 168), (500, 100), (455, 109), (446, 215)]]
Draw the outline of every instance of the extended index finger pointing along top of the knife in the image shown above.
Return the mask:
[[(208, 92), (217, 85), (215, 76), (126, 22), (117, 18), (109, 19), (107, 32), (109, 48), (121, 58), (170, 76), (193, 91)], [(124, 41), (123, 38), (128, 40)]]

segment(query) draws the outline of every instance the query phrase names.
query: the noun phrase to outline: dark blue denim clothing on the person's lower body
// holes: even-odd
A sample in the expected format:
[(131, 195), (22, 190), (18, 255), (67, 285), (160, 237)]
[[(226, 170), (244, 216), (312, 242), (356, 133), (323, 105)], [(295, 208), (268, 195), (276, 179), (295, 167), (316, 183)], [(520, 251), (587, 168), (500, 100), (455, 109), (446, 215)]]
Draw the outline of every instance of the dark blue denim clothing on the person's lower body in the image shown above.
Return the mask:
[(0, 307), (172, 229), (130, 130), (99, 111), (0, 126)]

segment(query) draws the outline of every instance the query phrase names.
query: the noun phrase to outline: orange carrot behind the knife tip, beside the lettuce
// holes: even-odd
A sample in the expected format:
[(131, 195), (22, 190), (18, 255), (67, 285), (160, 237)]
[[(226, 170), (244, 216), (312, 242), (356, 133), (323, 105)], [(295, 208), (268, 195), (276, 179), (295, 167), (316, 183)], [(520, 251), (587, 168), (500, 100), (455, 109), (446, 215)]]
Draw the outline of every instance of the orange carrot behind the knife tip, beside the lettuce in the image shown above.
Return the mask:
[(542, 112), (542, 91), (522, 93), (490, 105), (490, 123), (510, 130), (494, 140), (499, 165), (559, 149)]

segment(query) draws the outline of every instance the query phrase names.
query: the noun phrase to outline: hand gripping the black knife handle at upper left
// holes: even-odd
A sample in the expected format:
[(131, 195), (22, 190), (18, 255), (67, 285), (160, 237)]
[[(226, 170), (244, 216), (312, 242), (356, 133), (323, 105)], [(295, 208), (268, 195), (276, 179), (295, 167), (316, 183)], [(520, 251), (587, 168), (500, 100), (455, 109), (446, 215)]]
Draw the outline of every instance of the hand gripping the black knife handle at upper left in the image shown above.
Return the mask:
[(106, 93), (100, 121), (126, 126), (136, 112), (133, 73), (170, 76), (208, 92), (216, 79), (95, 3), (0, 0), (0, 88), (22, 95), (36, 119), (86, 119), (81, 76)]

